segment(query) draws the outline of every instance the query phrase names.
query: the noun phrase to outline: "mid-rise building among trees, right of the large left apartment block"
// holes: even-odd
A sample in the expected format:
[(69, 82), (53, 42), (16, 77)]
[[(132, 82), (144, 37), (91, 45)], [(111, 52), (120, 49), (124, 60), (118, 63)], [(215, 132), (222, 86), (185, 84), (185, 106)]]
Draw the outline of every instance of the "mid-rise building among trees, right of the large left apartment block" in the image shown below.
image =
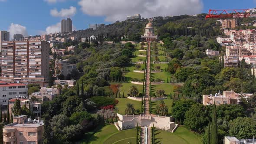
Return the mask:
[(55, 60), (55, 74), (62, 73), (67, 76), (72, 70), (76, 70), (75, 64), (70, 64), (67, 59), (56, 59)]

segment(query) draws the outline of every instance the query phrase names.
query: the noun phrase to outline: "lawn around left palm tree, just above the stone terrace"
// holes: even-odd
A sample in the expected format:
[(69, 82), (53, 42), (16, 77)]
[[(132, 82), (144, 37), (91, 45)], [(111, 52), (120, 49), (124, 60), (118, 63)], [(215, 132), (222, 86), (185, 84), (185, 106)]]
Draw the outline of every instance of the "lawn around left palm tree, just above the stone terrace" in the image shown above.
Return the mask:
[(131, 103), (134, 105), (135, 110), (141, 110), (141, 101), (135, 101), (128, 98), (116, 98), (119, 102), (116, 105), (118, 108), (118, 114), (125, 115), (125, 108), (127, 103)]

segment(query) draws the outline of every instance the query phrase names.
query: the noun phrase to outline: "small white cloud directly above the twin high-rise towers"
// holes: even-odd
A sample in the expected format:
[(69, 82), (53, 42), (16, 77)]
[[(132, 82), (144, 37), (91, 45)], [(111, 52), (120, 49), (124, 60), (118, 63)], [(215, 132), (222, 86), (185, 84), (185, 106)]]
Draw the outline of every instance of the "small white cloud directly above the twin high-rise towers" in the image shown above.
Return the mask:
[(59, 12), (55, 8), (51, 10), (50, 13), (54, 17), (72, 17), (76, 13), (76, 7), (69, 7), (69, 9), (61, 9)]

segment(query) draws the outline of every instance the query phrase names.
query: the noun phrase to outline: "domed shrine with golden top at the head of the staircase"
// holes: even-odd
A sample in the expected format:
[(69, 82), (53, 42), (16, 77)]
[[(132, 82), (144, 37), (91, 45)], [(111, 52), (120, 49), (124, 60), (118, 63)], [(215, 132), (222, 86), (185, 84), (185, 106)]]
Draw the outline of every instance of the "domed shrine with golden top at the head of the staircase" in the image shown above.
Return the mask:
[(148, 23), (144, 29), (144, 36), (141, 36), (145, 41), (156, 41), (158, 35), (154, 34), (154, 27), (152, 23)]

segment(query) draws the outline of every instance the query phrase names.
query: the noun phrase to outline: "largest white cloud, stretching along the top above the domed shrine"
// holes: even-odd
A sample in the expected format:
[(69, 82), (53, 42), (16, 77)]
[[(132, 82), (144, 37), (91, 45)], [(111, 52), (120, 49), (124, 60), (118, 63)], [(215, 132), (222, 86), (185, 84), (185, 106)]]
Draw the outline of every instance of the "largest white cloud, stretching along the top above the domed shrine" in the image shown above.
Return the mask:
[(106, 21), (125, 20), (140, 13), (142, 17), (197, 14), (203, 9), (202, 0), (80, 0), (83, 13), (106, 16)]

